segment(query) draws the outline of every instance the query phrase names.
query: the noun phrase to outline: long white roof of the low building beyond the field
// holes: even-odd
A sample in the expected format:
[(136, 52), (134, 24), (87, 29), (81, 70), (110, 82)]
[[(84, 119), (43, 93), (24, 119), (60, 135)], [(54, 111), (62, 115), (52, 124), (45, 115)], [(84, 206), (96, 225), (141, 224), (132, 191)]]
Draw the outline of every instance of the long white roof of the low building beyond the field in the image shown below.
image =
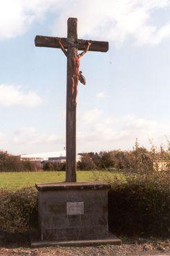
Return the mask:
[(66, 151), (52, 151), (52, 152), (44, 152), (44, 153), (35, 153), (35, 154), (23, 154), (21, 158), (26, 157), (41, 157), (44, 160), (48, 160), (48, 157), (66, 157)]

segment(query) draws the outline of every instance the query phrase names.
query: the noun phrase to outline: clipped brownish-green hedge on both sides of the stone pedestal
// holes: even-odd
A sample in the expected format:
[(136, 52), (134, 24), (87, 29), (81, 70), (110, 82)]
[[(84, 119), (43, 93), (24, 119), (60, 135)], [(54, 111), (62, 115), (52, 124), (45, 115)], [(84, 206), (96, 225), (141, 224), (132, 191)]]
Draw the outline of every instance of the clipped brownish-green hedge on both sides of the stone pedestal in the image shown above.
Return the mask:
[[(170, 237), (169, 174), (113, 182), (108, 193), (109, 229), (118, 235)], [(1, 191), (0, 231), (37, 230), (37, 191)]]

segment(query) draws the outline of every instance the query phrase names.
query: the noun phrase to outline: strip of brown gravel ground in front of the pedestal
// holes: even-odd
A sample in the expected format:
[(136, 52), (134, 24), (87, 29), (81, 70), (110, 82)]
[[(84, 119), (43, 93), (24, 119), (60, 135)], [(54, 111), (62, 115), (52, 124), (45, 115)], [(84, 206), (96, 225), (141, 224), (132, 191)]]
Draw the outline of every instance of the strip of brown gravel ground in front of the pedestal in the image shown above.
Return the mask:
[(125, 255), (168, 255), (170, 240), (158, 239), (122, 239), (122, 246), (89, 246), (89, 247), (44, 247), (30, 248), (28, 236), (7, 237), (0, 234), (0, 255), (7, 256), (125, 256)]

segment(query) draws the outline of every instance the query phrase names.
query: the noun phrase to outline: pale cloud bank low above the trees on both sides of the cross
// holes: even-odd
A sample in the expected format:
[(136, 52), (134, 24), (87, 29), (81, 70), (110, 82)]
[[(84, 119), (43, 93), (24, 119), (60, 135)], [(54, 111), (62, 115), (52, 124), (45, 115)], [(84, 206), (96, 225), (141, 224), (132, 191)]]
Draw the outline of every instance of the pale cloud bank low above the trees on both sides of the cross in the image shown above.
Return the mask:
[[(87, 117), (90, 117), (90, 121)], [(169, 131), (169, 122), (160, 123), (156, 120), (133, 117), (131, 114), (117, 118), (109, 117), (97, 109), (79, 112), (77, 152), (132, 149), (136, 137), (140, 145), (147, 148), (150, 147), (149, 139), (153, 139), (154, 144), (160, 146), (166, 144), (165, 135), (169, 138)], [(65, 131), (59, 134), (41, 133), (32, 126), (19, 128), (13, 136), (8, 136), (8, 140), (6, 138), (7, 135), (0, 133), (1, 147), (8, 148), (9, 151), (10, 148), (15, 148), (15, 151), (17, 148), (17, 153), (61, 149), (66, 142)]]

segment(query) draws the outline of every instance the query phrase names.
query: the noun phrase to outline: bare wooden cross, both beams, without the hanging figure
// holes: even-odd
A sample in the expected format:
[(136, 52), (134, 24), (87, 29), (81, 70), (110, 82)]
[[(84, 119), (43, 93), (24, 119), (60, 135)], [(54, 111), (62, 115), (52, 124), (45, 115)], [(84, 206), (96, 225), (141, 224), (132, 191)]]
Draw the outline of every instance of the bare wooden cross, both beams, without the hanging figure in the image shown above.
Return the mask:
[[(77, 18), (68, 18), (67, 37), (46, 37), (37, 35), (35, 46), (61, 48), (75, 47), (77, 50), (85, 50), (88, 40), (77, 39)], [(108, 42), (92, 41), (89, 51), (108, 51)], [(76, 182), (76, 104), (73, 104), (71, 92), (70, 65), (67, 58), (67, 94), (66, 94), (66, 182)]]

